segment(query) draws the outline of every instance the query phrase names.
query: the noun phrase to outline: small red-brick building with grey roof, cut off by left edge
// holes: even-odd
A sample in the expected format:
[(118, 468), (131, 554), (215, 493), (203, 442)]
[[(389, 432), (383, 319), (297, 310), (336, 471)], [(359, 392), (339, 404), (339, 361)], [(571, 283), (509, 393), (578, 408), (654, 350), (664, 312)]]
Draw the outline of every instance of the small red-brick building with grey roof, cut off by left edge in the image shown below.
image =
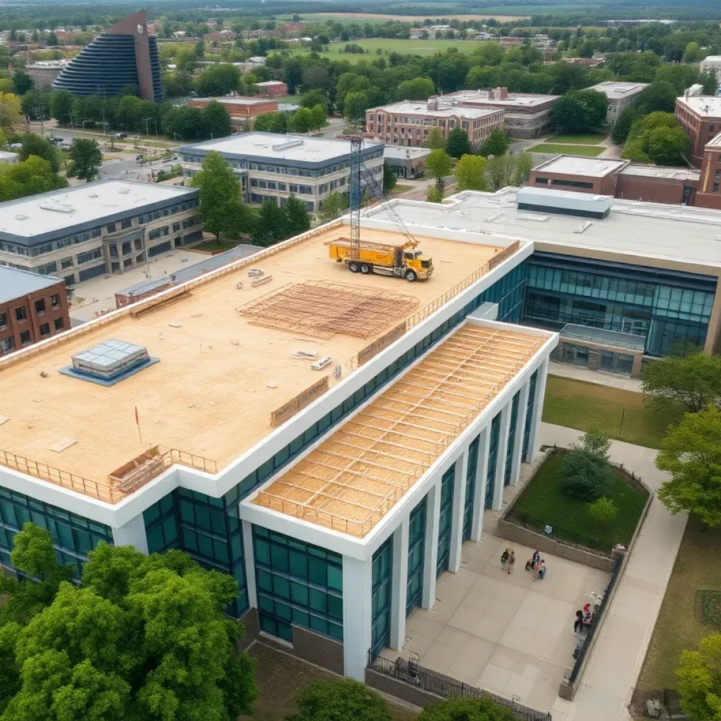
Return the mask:
[(63, 280), (0, 265), (0, 357), (69, 327)]

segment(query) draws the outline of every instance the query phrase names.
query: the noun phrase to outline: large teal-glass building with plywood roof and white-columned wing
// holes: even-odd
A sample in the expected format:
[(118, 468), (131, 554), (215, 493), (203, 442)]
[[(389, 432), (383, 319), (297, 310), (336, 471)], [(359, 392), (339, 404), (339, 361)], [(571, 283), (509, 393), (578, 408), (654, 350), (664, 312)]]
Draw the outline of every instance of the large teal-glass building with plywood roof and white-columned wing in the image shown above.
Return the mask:
[(558, 340), (518, 325), (532, 242), (428, 231), (426, 283), (348, 273), (335, 221), (0, 359), (0, 564), (30, 509), (76, 576), (180, 548), (238, 581), (244, 642), (363, 680), (534, 457)]

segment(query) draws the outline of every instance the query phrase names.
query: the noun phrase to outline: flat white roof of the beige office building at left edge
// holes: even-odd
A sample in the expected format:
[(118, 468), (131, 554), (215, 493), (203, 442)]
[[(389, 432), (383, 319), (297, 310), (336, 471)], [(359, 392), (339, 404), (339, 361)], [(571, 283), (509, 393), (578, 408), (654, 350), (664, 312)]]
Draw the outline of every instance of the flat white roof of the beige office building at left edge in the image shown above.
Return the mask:
[(143, 207), (164, 200), (179, 202), (194, 190), (177, 185), (99, 180), (0, 203), (0, 234), (32, 237), (85, 223), (102, 223), (107, 216), (124, 211), (143, 212)]

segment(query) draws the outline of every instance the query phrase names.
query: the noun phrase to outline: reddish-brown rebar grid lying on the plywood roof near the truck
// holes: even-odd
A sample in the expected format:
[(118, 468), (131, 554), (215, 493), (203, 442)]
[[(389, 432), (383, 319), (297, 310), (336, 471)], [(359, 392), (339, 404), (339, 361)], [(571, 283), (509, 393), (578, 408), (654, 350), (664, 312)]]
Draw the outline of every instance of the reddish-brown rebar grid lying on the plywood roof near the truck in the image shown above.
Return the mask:
[(369, 338), (412, 315), (417, 298), (376, 288), (332, 281), (288, 283), (240, 306), (237, 311), (254, 325), (324, 339), (337, 333)]

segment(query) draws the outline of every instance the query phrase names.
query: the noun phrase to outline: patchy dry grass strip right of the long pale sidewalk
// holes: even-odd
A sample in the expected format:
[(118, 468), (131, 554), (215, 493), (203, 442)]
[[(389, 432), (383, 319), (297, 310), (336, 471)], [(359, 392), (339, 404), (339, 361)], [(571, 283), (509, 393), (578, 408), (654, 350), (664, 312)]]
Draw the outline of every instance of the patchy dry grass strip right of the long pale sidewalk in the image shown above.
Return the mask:
[(675, 689), (681, 651), (695, 650), (704, 636), (718, 632), (699, 618), (697, 590), (721, 591), (721, 528), (705, 531), (691, 516), (643, 662), (639, 691)]

